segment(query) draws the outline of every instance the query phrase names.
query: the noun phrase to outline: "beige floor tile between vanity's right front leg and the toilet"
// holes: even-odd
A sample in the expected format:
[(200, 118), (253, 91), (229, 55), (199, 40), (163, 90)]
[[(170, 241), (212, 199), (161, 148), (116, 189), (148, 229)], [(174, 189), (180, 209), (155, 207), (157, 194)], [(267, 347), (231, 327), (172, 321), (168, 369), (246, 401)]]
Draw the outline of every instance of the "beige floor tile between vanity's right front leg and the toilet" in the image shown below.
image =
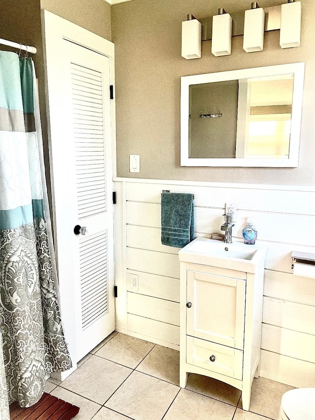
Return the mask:
[[(289, 389), (293, 389), (293, 387), (266, 378), (254, 378), (252, 382), (250, 411), (277, 420), (281, 398), (284, 392)], [(241, 401), (239, 405), (241, 406)]]

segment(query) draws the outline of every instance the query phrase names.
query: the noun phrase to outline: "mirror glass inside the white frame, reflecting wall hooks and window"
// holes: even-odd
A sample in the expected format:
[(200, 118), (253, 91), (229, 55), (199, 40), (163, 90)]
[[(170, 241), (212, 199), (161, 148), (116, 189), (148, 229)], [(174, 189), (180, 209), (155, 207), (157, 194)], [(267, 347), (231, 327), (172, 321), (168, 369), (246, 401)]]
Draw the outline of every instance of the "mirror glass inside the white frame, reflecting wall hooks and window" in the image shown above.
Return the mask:
[(288, 159), (294, 74), (189, 85), (189, 158)]

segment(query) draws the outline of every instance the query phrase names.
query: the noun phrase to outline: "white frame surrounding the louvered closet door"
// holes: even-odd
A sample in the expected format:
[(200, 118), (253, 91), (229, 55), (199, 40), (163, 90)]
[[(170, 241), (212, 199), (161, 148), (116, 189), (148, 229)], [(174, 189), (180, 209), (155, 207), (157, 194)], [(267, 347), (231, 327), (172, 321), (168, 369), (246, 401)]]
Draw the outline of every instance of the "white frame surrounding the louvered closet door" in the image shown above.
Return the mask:
[[(48, 118), (48, 144), (49, 144), (49, 160), (51, 172), (51, 186), (52, 186), (52, 200), (53, 206), (53, 221), (54, 221), (54, 239), (55, 252), (58, 264), (58, 271), (63, 273), (59, 277), (60, 284), (60, 309), (63, 317), (63, 328), (70, 356), (73, 363), (73, 368), (70, 371), (62, 372), (60, 380), (64, 380), (73, 370), (76, 369), (76, 337), (75, 337), (75, 308), (74, 305), (63, 301), (63, 296), (74, 296), (72, 274), (72, 260), (73, 256), (71, 249), (69, 250), (69, 243), (72, 242), (73, 230), (72, 226), (64, 226), (65, 221), (71, 219), (71, 211), (67, 203), (74, 192), (66, 191), (63, 188), (64, 174), (69, 178), (73, 175), (70, 173), (69, 165), (67, 164), (70, 148), (65, 138), (71, 138), (69, 131), (69, 124), (66, 121), (66, 112), (63, 112), (65, 104), (60, 98), (63, 97), (65, 91), (64, 76), (62, 66), (56, 65), (57, 58), (63, 54), (63, 40), (74, 42), (80, 46), (86, 47), (99, 54), (109, 58), (110, 67), (110, 84), (115, 90), (115, 68), (114, 68), (114, 44), (107, 39), (104, 39), (95, 33), (89, 32), (53, 13), (42, 10), (42, 34), (43, 34), (43, 48), (44, 48), (44, 64), (45, 64), (45, 92), (46, 92), (46, 106)], [(47, 57), (46, 50), (49, 51)], [(56, 86), (58, 87), (56, 89)], [(49, 95), (49, 101), (48, 101)], [(115, 95), (114, 95), (115, 98)], [(59, 103), (60, 106), (49, 107), (49, 102)], [(116, 176), (116, 119), (115, 119), (115, 99), (111, 100), (111, 140), (112, 140), (112, 164), (113, 176)], [(57, 159), (58, 158), (58, 159)], [(54, 168), (54, 161), (63, 165), (63, 173), (58, 171), (58, 167)], [(59, 229), (64, 229), (63, 240), (58, 237), (56, 226)], [(67, 232), (67, 233), (66, 233)], [(65, 240), (65, 239), (66, 240)], [(70, 253), (70, 254), (69, 254)], [(63, 256), (63, 258), (58, 258)], [(70, 263), (69, 263), (70, 260)]]

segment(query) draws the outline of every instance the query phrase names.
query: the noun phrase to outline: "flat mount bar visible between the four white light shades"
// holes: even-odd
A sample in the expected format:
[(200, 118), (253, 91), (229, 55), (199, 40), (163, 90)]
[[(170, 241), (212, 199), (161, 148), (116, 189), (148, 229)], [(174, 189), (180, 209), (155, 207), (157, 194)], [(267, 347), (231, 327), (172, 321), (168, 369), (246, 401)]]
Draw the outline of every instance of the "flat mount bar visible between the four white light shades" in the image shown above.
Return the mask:
[[(288, 1), (291, 2), (291, 0)], [(263, 7), (263, 9), (265, 11), (265, 32), (280, 29), (281, 5)], [(244, 11), (230, 13), (230, 15), (233, 19), (232, 36), (244, 35)], [(212, 16), (198, 20), (202, 25), (201, 40), (210, 41), (212, 39)]]

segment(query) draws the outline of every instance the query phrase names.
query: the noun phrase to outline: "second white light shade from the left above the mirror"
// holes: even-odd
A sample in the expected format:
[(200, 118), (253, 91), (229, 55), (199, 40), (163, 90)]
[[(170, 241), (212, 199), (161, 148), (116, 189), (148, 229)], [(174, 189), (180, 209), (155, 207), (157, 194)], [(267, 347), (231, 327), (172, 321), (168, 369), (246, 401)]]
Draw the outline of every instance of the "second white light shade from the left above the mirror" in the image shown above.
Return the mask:
[(228, 13), (215, 15), (212, 18), (212, 45), (214, 56), (231, 54), (232, 18)]

